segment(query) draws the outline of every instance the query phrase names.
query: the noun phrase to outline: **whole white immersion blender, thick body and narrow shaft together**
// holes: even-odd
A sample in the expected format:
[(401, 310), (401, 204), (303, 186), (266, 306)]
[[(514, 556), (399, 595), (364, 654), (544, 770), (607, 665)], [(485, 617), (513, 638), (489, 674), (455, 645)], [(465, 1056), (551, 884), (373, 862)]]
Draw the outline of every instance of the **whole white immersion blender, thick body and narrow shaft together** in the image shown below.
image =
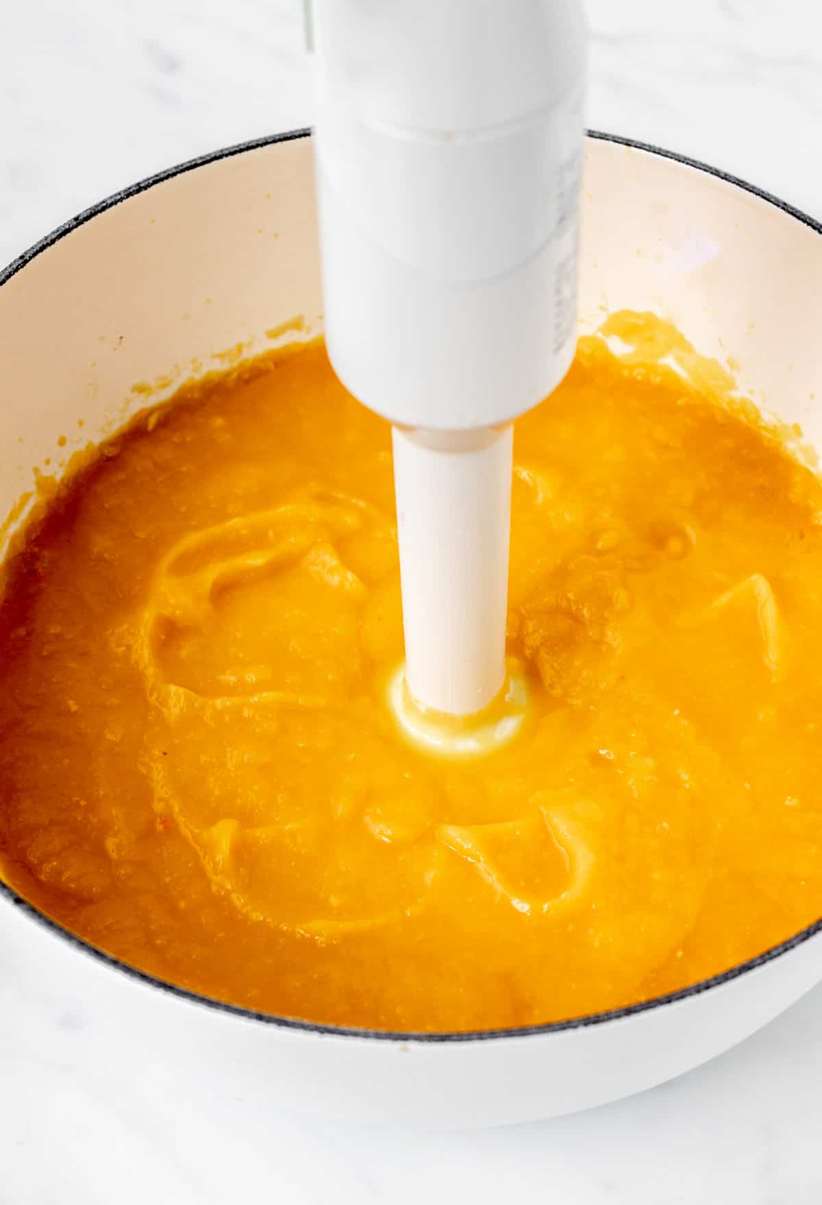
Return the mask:
[(329, 355), (395, 425), (408, 686), (467, 715), (505, 672), (505, 427), (574, 352), (581, 5), (314, 0), (311, 24)]

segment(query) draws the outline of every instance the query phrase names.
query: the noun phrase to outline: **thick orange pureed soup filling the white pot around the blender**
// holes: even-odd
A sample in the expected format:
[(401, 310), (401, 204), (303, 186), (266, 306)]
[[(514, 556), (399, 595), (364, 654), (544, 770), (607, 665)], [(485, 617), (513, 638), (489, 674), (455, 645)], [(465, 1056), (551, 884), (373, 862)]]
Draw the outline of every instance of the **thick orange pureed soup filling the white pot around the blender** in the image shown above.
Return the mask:
[[(0, 857), (154, 975), (394, 1030), (680, 988), (822, 913), (822, 490), (615, 316), (516, 425), (526, 730), (403, 742), (390, 433), (321, 345), (143, 415), (10, 558)], [(690, 383), (654, 360), (673, 354)]]

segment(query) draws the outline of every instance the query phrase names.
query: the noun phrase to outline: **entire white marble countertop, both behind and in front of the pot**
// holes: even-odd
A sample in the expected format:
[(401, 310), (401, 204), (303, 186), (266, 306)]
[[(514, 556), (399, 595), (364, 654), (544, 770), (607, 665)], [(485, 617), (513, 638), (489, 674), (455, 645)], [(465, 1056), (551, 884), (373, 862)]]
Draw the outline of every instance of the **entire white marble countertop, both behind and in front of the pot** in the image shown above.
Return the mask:
[[(822, 217), (818, 0), (589, 0), (590, 124)], [(0, 0), (0, 261), (136, 178), (308, 124), (297, 0)], [(0, 918), (1, 919), (1, 918)], [(2, 957), (0, 941), (0, 958)], [(82, 1013), (0, 962), (0, 1203), (811, 1205), (822, 989), (726, 1057), (591, 1113), (439, 1136), (200, 1100), (156, 1066), (83, 1074)], [(147, 1078), (143, 1076), (143, 1078)]]

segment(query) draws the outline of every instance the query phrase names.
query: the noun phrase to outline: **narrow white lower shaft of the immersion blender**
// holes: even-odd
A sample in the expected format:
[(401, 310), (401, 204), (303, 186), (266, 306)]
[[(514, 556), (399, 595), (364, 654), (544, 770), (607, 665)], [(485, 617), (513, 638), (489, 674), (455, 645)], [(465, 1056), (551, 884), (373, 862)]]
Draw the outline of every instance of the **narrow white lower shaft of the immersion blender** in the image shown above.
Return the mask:
[(394, 428), (394, 477), (414, 699), (456, 716), (505, 678), (513, 428)]

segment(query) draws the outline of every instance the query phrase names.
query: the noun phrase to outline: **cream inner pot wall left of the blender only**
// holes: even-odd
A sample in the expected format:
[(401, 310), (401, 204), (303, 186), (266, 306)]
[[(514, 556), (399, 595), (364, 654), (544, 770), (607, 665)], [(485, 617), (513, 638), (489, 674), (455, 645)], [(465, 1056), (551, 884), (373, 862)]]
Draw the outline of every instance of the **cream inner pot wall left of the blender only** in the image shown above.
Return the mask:
[(35, 466), (59, 471), (296, 316), (321, 329), (308, 139), (183, 171), (78, 225), (0, 288), (0, 519)]

